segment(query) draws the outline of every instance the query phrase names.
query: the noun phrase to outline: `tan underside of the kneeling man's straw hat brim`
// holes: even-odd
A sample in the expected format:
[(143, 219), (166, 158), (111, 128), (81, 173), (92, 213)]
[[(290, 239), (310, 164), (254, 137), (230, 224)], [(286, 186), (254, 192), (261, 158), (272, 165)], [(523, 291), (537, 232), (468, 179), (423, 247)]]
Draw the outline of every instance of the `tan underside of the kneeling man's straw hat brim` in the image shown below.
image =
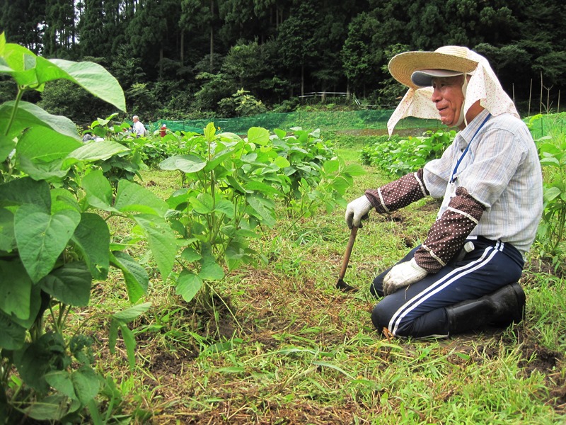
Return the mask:
[(389, 61), (389, 72), (394, 79), (411, 89), (420, 89), (412, 81), (411, 76), (417, 71), (430, 71), (432, 69), (443, 69), (446, 71), (464, 74), (472, 72), (478, 66), (478, 62), (466, 57), (446, 55), (440, 52), (405, 52), (395, 55)]

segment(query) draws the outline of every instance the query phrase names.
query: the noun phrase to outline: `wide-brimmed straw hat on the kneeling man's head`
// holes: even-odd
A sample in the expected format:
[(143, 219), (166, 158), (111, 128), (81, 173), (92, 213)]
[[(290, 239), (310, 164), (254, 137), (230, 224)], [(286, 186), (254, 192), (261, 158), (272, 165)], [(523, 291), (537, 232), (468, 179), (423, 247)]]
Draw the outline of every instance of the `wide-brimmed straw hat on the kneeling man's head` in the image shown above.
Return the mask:
[[(468, 47), (460, 46), (439, 47), (434, 52), (405, 52), (395, 55), (389, 61), (389, 72), (401, 84), (418, 89), (429, 85), (432, 77), (451, 77), (473, 72), (478, 61), (471, 57), (473, 52)], [(413, 77), (415, 72), (417, 74)]]

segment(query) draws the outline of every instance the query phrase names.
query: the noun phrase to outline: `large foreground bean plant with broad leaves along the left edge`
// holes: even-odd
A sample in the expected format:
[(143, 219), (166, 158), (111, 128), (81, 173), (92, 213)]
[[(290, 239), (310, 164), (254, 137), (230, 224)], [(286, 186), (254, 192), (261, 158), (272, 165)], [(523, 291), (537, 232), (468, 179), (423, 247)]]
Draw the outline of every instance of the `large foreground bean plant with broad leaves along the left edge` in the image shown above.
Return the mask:
[[(112, 240), (112, 216), (141, 229), (167, 278), (176, 249), (168, 205), (127, 179), (112, 191), (96, 164), (128, 147), (83, 144), (71, 120), (22, 99), (67, 79), (124, 111), (120, 84), (103, 67), (47, 60), (2, 33), (0, 73), (18, 86), (15, 101), (0, 105), (0, 423), (99, 424), (97, 395), (108, 380), (93, 365), (90, 337), (67, 334), (67, 319), (88, 305), (93, 280), (105, 280), (110, 266), (122, 271), (130, 301), (146, 293), (148, 274), (127, 253), (129, 244)], [(122, 331), (130, 361), (127, 324), (147, 308), (108, 313), (110, 349)]]

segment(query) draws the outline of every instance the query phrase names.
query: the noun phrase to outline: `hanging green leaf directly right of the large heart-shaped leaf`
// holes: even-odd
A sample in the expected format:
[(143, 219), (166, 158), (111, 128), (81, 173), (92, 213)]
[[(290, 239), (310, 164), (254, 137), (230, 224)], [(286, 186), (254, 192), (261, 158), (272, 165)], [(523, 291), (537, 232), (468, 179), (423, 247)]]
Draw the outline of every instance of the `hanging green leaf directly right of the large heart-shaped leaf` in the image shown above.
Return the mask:
[(83, 212), (71, 241), (83, 254), (93, 278), (105, 279), (110, 266), (110, 230), (103, 217), (92, 212)]

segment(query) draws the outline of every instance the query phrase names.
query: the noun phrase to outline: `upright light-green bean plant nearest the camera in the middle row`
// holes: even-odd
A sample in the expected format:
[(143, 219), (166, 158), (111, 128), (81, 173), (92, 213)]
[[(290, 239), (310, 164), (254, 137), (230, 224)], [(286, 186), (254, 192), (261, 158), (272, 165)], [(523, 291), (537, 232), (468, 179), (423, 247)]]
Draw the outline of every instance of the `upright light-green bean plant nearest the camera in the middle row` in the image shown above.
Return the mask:
[(168, 198), (172, 227), (183, 240), (178, 258), (182, 271), (177, 293), (187, 301), (202, 290), (210, 300), (212, 283), (241, 263), (256, 261), (249, 239), (261, 225), (275, 225), (275, 197), (288, 179), (279, 171), (289, 165), (269, 146), (270, 134), (250, 128), (243, 139), (216, 133), (214, 123), (204, 135), (192, 134), (187, 153), (161, 162), (161, 169), (183, 174), (183, 187)]

